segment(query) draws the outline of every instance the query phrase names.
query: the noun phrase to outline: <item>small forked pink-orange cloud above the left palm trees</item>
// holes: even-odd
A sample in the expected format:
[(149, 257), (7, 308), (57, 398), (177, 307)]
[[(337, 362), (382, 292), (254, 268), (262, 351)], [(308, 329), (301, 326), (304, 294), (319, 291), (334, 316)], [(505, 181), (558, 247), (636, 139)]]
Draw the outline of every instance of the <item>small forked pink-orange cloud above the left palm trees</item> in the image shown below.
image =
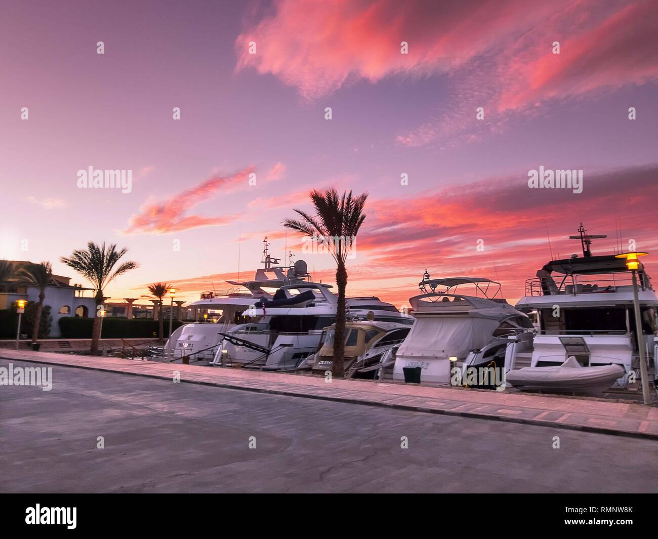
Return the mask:
[(168, 234), (182, 232), (203, 226), (221, 226), (233, 222), (240, 215), (222, 215), (220, 217), (203, 217), (185, 215), (198, 203), (207, 200), (219, 190), (238, 188), (246, 184), (249, 174), (255, 167), (247, 167), (233, 176), (213, 176), (209, 180), (191, 189), (173, 195), (162, 202), (147, 202), (130, 220), (123, 234)]

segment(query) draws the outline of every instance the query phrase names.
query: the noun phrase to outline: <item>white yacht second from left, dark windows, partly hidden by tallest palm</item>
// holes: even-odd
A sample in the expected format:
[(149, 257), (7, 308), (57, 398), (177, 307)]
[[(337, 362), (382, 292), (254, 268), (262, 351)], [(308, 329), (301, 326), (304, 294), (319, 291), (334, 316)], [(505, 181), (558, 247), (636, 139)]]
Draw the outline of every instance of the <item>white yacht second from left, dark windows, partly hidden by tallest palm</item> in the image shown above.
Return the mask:
[[(282, 286), (270, 299), (243, 312), (249, 322), (222, 336), (214, 365), (242, 365), (263, 369), (297, 369), (315, 353), (322, 331), (336, 322), (338, 297), (330, 285), (302, 282)], [(348, 297), (349, 317), (413, 324), (390, 303), (378, 297)]]

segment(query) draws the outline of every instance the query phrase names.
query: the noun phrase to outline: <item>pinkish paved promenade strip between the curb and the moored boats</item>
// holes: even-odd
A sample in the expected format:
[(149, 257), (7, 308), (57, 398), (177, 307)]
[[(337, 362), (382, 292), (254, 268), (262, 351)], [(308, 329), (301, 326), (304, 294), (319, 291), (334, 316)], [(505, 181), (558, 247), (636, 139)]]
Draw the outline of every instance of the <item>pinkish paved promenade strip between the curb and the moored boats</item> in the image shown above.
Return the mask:
[[(0, 350), (0, 358), (2, 367), (14, 359), (163, 380), (178, 372), (181, 382), (192, 384), (658, 440), (655, 405), (361, 380), (326, 383), (316, 376), (32, 351)], [(57, 382), (55, 369), (53, 378)]]

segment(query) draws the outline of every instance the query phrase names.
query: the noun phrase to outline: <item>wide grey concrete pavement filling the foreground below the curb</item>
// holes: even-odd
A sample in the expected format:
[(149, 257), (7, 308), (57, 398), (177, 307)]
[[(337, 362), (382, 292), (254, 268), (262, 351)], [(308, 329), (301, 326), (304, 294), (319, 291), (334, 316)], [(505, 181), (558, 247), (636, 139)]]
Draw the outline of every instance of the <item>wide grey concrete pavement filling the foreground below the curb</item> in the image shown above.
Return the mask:
[(53, 376), (51, 391), (0, 387), (0, 492), (656, 492), (653, 440), (56, 365)]

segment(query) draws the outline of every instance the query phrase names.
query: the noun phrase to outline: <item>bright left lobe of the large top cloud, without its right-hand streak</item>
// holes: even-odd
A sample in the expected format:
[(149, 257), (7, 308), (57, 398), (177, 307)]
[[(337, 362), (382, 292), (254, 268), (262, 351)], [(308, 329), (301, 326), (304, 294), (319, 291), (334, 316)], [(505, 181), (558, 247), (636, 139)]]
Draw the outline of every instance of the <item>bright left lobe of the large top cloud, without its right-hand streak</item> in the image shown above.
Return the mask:
[[(276, 13), (236, 39), (236, 70), (253, 67), (274, 74), (303, 97), (315, 99), (349, 80), (374, 83), (393, 74), (428, 76), (453, 70), (501, 35), (536, 24), (566, 3), (538, 3), (528, 9), (527, 3), (510, 0), (281, 0)], [(249, 53), (251, 41), (256, 43), (255, 54)], [(401, 53), (403, 41), (408, 54)]]

